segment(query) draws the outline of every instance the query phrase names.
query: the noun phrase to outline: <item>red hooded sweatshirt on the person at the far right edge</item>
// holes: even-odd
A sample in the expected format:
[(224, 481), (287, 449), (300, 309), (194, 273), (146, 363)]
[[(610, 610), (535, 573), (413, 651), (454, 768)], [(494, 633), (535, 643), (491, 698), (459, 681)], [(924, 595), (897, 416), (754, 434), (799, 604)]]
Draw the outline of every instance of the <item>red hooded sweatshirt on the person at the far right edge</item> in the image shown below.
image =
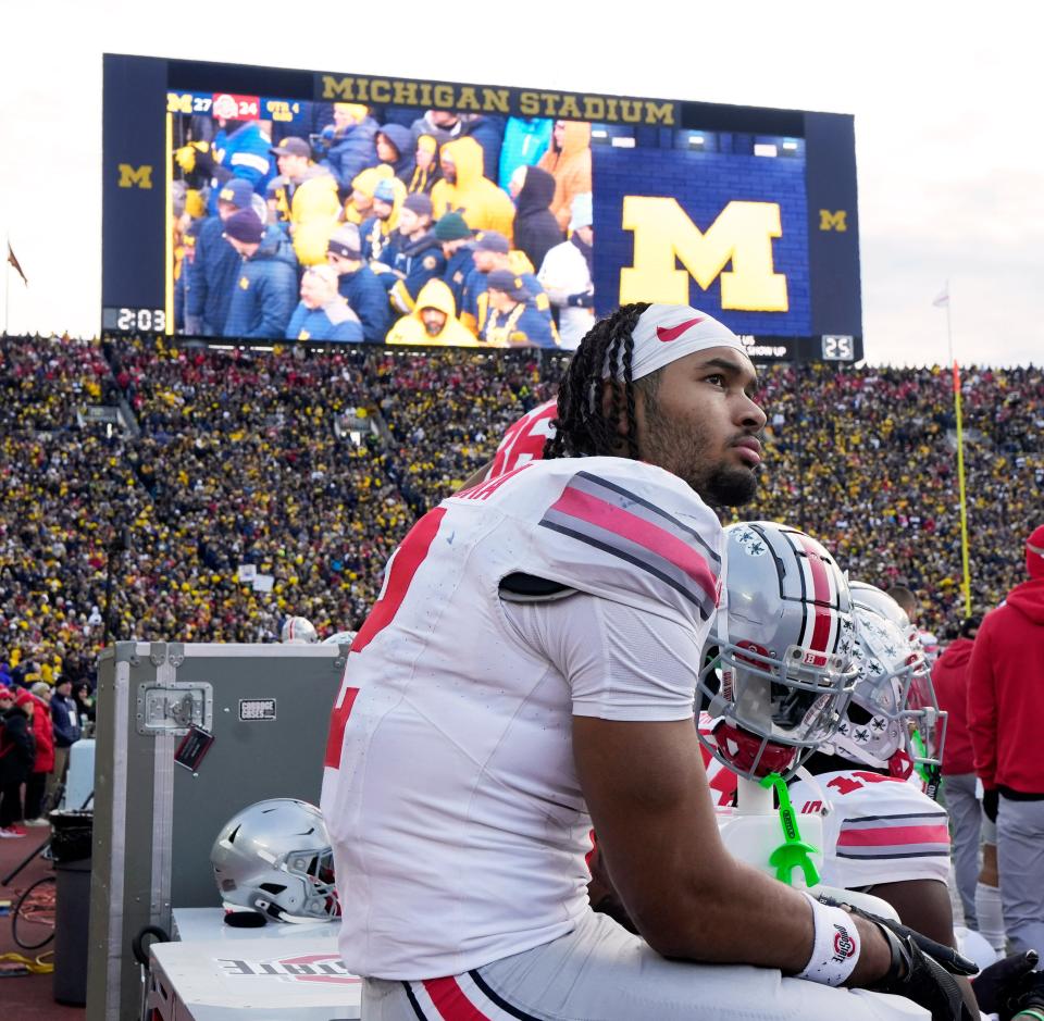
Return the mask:
[(968, 730), (986, 787), (1044, 794), (1044, 578), (986, 615), (971, 653)]

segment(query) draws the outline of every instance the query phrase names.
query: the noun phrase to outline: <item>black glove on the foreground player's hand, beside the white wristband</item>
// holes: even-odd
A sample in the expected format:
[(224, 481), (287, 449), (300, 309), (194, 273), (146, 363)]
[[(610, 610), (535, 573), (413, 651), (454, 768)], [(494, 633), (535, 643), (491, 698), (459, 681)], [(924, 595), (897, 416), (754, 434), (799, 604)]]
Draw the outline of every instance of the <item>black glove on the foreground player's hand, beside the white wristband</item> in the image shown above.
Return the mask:
[(954, 979), (955, 974), (974, 974), (978, 969), (972, 961), (961, 957), (953, 947), (943, 946), (898, 922), (852, 905), (842, 905), (831, 897), (820, 896), (819, 900), (833, 907), (845, 907), (853, 914), (873, 922), (888, 941), (892, 963), (884, 976), (870, 986), (873, 992), (905, 996), (930, 1010), (932, 1021), (974, 1021)]

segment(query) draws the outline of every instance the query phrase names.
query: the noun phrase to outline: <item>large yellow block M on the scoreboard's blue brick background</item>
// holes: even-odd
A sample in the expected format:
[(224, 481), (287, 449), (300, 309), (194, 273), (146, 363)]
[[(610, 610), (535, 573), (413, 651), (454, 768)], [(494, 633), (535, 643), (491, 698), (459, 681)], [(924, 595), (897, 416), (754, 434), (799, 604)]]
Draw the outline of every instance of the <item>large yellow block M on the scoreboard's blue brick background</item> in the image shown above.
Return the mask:
[(688, 304), (689, 279), (707, 290), (720, 276), (723, 309), (790, 308), (786, 276), (772, 263), (772, 239), (783, 235), (775, 202), (730, 202), (703, 233), (678, 199), (629, 195), (622, 226), (634, 232), (634, 265), (620, 271), (621, 304)]

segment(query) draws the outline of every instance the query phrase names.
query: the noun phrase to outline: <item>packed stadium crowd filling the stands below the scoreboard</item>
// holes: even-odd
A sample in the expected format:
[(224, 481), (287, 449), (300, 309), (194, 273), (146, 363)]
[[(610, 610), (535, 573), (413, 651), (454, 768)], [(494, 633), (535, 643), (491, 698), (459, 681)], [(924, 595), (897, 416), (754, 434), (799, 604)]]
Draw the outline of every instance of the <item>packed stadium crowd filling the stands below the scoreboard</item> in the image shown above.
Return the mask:
[[(30, 681), (84, 676), (110, 555), (120, 638), (274, 640), (291, 613), (320, 634), (358, 626), (412, 521), (554, 396), (564, 364), (532, 349), (302, 356), (0, 344), (0, 662)], [(767, 470), (746, 515), (803, 525), (853, 576), (908, 586), (922, 626), (948, 633), (964, 615), (949, 374), (805, 365), (762, 379)], [(972, 593), (990, 608), (1044, 506), (1044, 374), (972, 370), (964, 390)], [(113, 395), (133, 427), (85, 419)], [(346, 414), (372, 423), (358, 444), (335, 428)], [(123, 530), (129, 548), (111, 552)]]

